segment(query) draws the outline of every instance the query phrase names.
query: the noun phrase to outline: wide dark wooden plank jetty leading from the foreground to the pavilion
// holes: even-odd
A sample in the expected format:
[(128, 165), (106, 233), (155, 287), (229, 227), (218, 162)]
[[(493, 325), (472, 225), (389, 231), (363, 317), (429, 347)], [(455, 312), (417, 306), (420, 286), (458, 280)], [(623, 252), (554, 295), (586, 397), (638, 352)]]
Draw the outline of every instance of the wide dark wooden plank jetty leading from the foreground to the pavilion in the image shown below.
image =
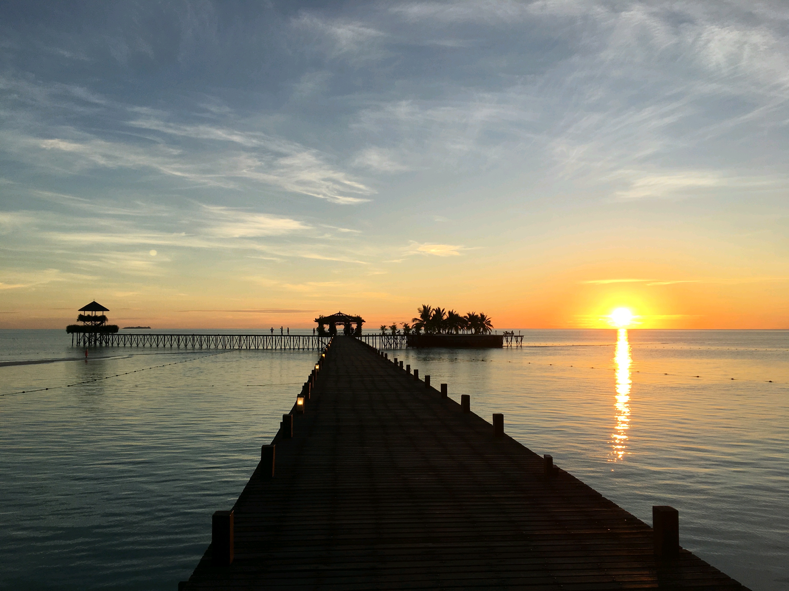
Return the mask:
[(314, 384), (179, 589), (744, 589), (356, 339)]

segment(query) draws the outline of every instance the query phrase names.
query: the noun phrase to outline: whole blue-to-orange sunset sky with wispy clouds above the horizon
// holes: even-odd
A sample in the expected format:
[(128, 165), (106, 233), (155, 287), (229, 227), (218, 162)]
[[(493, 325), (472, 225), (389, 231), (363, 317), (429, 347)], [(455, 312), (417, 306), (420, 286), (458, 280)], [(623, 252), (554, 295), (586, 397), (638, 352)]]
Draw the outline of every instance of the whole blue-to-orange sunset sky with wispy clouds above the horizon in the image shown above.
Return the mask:
[(0, 11), (0, 328), (789, 328), (786, 2)]

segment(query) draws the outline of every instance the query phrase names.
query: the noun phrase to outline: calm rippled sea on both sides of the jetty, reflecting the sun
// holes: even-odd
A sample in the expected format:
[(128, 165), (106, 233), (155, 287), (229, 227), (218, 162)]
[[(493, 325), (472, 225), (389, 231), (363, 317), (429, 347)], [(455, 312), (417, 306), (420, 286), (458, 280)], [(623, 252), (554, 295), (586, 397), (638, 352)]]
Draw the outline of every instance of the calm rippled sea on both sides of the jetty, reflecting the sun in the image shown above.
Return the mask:
[[(523, 348), (390, 356), (645, 522), (676, 507), (682, 546), (752, 589), (789, 589), (789, 331), (522, 333)], [(80, 356), (70, 343), (0, 330), (0, 363)], [(174, 589), (315, 357), (105, 348), (0, 366), (0, 587)]]

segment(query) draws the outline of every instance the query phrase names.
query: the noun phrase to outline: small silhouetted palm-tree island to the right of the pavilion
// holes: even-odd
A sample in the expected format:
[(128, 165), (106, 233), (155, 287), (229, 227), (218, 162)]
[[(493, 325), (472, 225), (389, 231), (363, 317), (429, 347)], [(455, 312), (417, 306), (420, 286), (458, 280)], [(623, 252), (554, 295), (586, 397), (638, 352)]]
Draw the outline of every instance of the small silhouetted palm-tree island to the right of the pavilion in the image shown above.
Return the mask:
[[(422, 304), (419, 314), (408, 322), (402, 322), (402, 334), (406, 335), (409, 347), (447, 348), (502, 348), (503, 336), (491, 334), (493, 322), (483, 313), (468, 312), (465, 316), (455, 310), (431, 307)], [(398, 325), (381, 325), (381, 334), (391, 331), (400, 333)]]

